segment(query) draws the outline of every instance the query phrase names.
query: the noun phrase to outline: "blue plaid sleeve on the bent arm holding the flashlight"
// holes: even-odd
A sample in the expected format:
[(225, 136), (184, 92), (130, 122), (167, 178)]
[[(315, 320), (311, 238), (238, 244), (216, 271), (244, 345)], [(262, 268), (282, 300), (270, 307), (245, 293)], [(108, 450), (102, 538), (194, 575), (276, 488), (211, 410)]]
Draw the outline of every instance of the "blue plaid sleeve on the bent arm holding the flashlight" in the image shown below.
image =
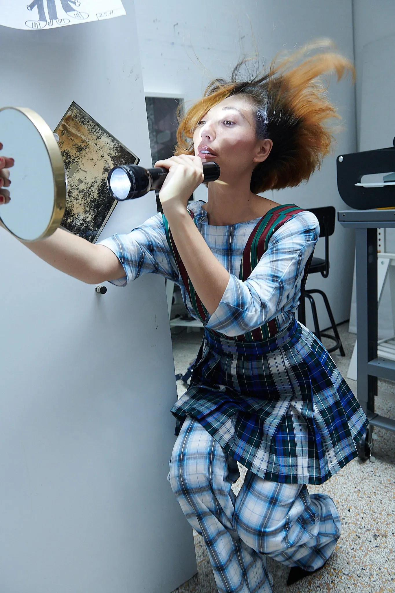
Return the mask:
[(319, 224), (311, 212), (293, 216), (274, 232), (245, 282), (230, 275), (207, 327), (227, 336), (239, 336), (291, 309), (300, 297), (304, 266), (318, 238)]

